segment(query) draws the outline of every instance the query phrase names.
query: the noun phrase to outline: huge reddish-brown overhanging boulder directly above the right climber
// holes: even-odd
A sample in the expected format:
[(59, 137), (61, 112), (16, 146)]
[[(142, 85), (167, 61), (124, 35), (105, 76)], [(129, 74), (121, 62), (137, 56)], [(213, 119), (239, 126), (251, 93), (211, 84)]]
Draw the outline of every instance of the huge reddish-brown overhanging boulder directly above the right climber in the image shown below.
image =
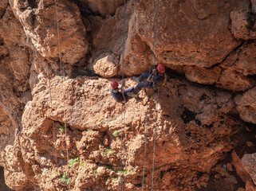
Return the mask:
[[(200, 6), (202, 2), (207, 5), (204, 10)], [(152, 49), (156, 1), (155, 6), (150, 5), (151, 1), (140, 1), (137, 7), (137, 33)], [(207, 0), (161, 2), (157, 59), (167, 65), (188, 64), (199, 67), (210, 67), (221, 62), (240, 45), (228, 29), (230, 12), (237, 6), (248, 7), (249, 2), (220, 2), (218, 5)]]

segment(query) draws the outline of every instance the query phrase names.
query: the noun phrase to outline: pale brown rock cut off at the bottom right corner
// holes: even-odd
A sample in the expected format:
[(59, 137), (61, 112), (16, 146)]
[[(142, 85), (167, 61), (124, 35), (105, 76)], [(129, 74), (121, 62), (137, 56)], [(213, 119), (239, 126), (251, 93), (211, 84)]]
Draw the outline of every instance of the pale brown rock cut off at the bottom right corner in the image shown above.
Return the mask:
[(245, 170), (250, 174), (250, 177), (256, 185), (256, 154), (245, 154), (242, 157), (242, 165)]

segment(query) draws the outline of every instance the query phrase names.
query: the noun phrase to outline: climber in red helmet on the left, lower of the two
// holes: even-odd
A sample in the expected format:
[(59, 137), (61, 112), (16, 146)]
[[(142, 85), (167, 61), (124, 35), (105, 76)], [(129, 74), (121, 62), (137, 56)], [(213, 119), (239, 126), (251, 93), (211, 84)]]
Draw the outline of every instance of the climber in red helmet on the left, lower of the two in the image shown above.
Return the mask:
[[(129, 99), (132, 99), (132, 97), (128, 96), (127, 93), (128, 92), (132, 92), (134, 90), (133, 87), (130, 88), (126, 88), (124, 89), (124, 81), (122, 82), (122, 86), (121, 86), (121, 91), (119, 92), (119, 88), (118, 88), (118, 83), (113, 80), (111, 82), (111, 95), (113, 96), (113, 98), (116, 100), (116, 102), (118, 103), (126, 103), (128, 102)], [(139, 97), (135, 97), (136, 99), (136, 103), (140, 102), (142, 99)]]

